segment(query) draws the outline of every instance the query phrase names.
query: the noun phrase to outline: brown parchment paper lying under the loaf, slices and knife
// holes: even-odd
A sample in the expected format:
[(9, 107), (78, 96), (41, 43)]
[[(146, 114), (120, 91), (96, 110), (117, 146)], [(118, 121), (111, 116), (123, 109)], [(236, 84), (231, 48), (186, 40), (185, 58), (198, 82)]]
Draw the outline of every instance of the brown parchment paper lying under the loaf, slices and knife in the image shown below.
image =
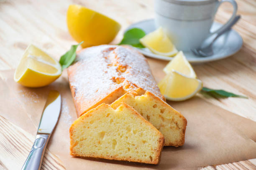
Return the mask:
[(61, 115), (48, 148), (59, 157), (67, 170), (197, 169), (256, 158), (256, 122), (223, 110), (200, 97), (169, 103), (187, 118), (185, 144), (179, 148), (164, 147), (159, 165), (73, 158), (69, 155), (69, 126), (77, 116), (66, 72), (57, 81), (42, 88), (23, 87), (13, 81), (13, 74), (14, 70), (0, 72), (0, 115), (32, 135), (36, 135), (49, 90), (61, 93)]

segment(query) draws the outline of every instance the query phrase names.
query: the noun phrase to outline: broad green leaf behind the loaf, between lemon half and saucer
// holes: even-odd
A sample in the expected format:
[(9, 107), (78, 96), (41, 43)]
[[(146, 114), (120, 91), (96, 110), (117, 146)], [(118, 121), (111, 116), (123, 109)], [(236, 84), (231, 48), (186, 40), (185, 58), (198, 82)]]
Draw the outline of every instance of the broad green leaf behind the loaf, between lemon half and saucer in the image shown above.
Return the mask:
[(118, 45), (128, 44), (133, 47), (144, 48), (139, 40), (145, 35), (146, 33), (143, 30), (139, 28), (132, 28), (124, 33), (123, 40)]

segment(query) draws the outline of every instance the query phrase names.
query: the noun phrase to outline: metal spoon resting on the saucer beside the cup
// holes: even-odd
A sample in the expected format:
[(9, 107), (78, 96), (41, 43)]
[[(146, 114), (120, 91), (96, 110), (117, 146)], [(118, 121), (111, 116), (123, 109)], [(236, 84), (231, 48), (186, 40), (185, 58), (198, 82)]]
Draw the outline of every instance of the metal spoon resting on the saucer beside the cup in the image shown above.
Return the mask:
[(210, 36), (209, 39), (211, 38), (212, 41), (207, 40), (208, 43), (210, 42), (209, 45), (204, 45), (205, 47), (194, 48), (194, 49), (191, 49), (191, 51), (195, 55), (199, 55), (199, 56), (202, 56), (202, 57), (207, 57), (207, 56), (213, 55), (213, 50), (212, 50), (213, 42), (215, 40), (217, 40), (218, 37), (220, 37), (220, 35), (223, 35), (226, 31), (230, 30), (230, 28), (233, 25), (235, 25), (240, 18), (241, 18), (241, 15), (237, 15), (236, 18), (233, 20), (233, 22), (231, 22), (226, 29), (224, 29), (223, 31), (219, 32), (217, 35), (215, 35), (215, 37), (214, 36)]

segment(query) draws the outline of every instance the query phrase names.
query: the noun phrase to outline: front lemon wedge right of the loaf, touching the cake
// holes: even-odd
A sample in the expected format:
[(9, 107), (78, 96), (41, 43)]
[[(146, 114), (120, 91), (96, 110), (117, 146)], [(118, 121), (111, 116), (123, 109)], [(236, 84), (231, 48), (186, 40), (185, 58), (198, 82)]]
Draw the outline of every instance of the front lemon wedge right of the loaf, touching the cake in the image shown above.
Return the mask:
[(199, 92), (202, 89), (202, 82), (172, 70), (159, 82), (158, 86), (167, 100), (183, 101)]

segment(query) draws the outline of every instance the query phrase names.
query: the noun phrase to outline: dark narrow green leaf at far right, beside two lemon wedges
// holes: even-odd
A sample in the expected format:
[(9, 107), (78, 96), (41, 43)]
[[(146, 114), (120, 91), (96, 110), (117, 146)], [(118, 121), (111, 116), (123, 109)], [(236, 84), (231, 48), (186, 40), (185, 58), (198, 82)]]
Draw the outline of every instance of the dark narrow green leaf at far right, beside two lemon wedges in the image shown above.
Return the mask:
[(241, 98), (248, 98), (243, 95), (236, 95), (232, 92), (227, 92), (225, 90), (215, 90), (215, 89), (210, 89), (207, 87), (203, 87), (201, 90), (201, 93), (206, 93), (207, 95), (210, 95), (215, 98), (225, 98), (225, 97), (241, 97)]

